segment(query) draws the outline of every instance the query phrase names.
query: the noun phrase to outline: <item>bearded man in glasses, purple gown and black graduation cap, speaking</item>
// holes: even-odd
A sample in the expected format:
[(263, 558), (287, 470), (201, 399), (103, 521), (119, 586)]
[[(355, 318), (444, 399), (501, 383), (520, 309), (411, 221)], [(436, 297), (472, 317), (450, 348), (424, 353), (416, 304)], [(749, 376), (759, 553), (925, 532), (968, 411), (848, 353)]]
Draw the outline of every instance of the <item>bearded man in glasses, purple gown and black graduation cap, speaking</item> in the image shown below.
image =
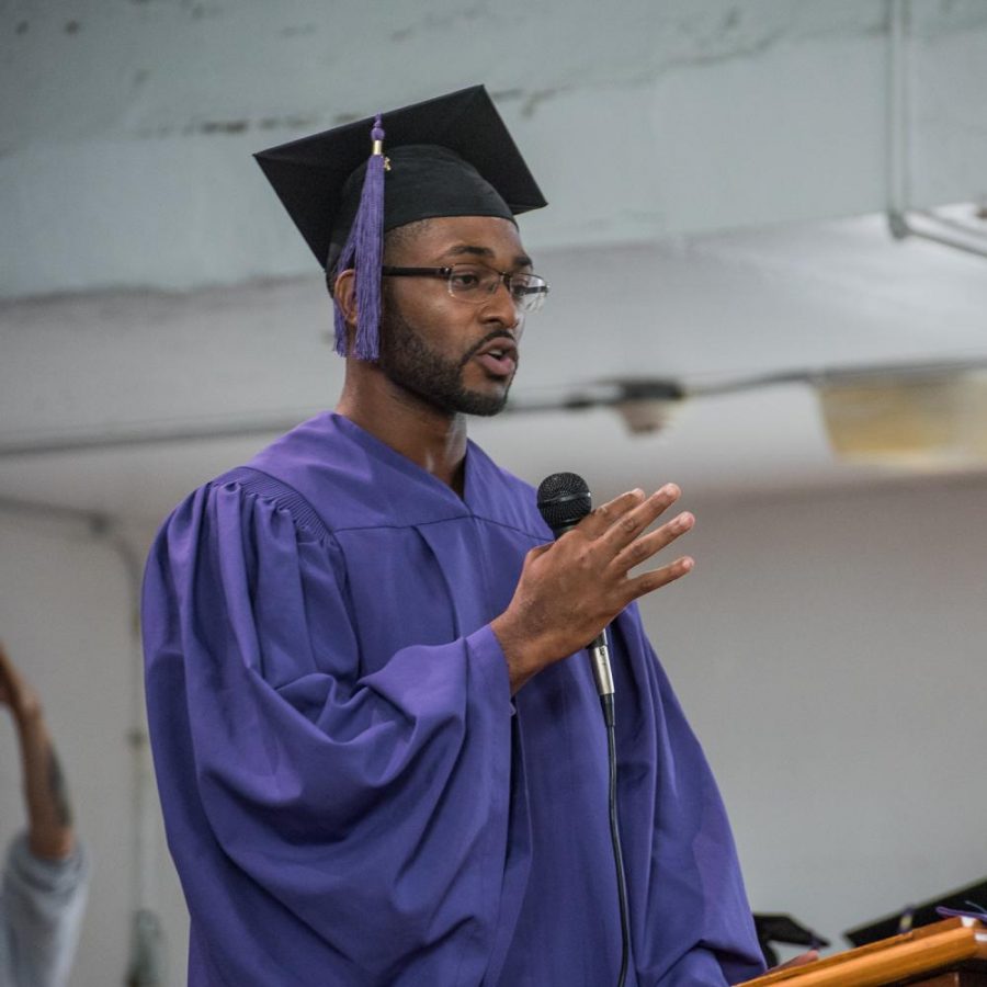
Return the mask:
[(533, 490), (466, 438), (547, 292), (513, 218), (544, 201), (486, 92), (259, 158), (326, 265), (347, 379), (334, 413), (180, 504), (148, 561), (190, 984), (615, 984), (583, 649), (611, 622), (626, 983), (757, 975), (727, 819), (634, 603), (692, 560), (628, 576), (691, 526), (649, 529), (678, 489), (552, 543)]

